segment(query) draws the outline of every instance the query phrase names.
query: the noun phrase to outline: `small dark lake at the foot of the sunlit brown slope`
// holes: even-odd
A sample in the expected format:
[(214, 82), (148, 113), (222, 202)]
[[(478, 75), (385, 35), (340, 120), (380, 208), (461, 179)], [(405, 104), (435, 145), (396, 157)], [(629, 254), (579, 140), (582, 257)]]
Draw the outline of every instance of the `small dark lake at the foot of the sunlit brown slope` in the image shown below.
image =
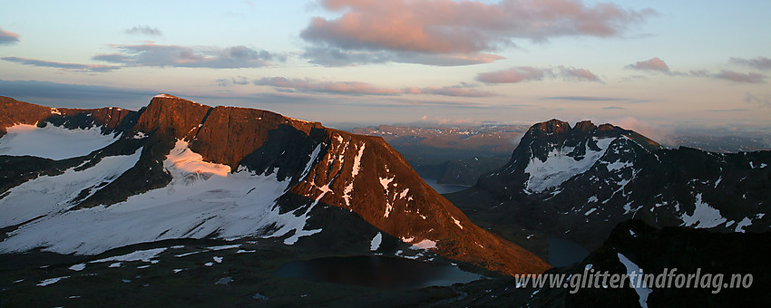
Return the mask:
[(386, 290), (417, 289), (468, 283), (482, 275), (464, 272), (453, 265), (437, 265), (377, 255), (333, 256), (288, 262), (274, 275), (310, 281), (355, 284)]

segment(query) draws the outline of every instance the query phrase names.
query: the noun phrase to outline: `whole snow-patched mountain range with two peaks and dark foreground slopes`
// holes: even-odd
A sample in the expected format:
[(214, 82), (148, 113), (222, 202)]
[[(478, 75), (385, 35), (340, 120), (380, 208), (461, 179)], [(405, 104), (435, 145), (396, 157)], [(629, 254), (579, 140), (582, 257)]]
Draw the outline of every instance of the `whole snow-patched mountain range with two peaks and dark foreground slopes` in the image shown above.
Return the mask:
[[(91, 304), (128, 285), (140, 290), (124, 302), (134, 304), (216, 301), (188, 294), (206, 290), (234, 305), (757, 305), (768, 300), (747, 294), (768, 285), (755, 250), (771, 226), (769, 165), (769, 151), (669, 149), (611, 124), (549, 120), (523, 134), (503, 167), (443, 196), (381, 137), (270, 111), (168, 94), (139, 111), (0, 97), (0, 271), (14, 277), (0, 281), (0, 304), (73, 300), (38, 289), (55, 284), (47, 290), (93, 296), (83, 302)], [(542, 259), (551, 247), (534, 243), (545, 237), (591, 253), (551, 267)], [(229, 265), (209, 270), (223, 255)], [(395, 292), (275, 275), (288, 261), (341, 255), (454, 262), (489, 279)], [(522, 288), (511, 278), (632, 265), (758, 278), (719, 296), (656, 289), (646, 298), (632, 288)], [(56, 284), (63, 279), (72, 284)]]

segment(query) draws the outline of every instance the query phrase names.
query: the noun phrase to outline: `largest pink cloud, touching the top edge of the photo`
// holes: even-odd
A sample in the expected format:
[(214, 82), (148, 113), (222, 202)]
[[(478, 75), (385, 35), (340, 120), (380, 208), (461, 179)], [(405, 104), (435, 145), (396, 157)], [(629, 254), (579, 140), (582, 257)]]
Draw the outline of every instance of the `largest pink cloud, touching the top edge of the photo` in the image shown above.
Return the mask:
[(316, 17), (300, 36), (323, 48), (395, 53), (481, 53), (517, 39), (619, 36), (650, 9), (582, 0), (320, 0), (337, 18)]

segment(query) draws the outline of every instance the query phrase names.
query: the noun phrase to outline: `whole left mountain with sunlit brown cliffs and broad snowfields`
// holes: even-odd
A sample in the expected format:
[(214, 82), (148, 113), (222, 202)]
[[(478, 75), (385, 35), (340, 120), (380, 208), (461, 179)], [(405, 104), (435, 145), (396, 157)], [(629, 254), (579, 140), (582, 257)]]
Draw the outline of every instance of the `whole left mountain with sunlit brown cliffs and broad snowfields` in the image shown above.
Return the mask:
[(140, 111), (0, 104), (0, 252), (247, 236), (369, 252), (391, 236), (504, 274), (548, 268), (473, 225), (381, 138), (167, 94)]

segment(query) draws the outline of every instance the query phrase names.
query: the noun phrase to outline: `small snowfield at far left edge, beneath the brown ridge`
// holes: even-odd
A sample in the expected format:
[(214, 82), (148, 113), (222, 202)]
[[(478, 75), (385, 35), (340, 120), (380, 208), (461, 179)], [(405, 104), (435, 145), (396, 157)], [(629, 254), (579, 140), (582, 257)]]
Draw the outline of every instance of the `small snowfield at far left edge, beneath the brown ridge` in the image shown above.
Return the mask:
[(67, 130), (51, 124), (44, 128), (16, 124), (0, 138), (0, 155), (71, 159), (102, 149), (115, 140), (112, 135), (102, 135), (102, 129), (98, 127)]

